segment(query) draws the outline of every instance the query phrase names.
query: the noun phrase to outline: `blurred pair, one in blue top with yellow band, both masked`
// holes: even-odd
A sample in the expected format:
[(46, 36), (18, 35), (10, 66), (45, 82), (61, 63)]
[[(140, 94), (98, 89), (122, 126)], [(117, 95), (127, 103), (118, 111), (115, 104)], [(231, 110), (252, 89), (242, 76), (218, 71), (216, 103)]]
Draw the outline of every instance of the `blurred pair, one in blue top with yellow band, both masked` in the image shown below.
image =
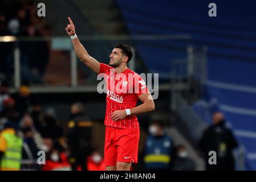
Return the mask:
[(161, 120), (155, 119), (148, 128), (148, 136), (143, 150), (145, 170), (194, 171), (196, 163), (182, 144), (175, 144), (164, 131)]

